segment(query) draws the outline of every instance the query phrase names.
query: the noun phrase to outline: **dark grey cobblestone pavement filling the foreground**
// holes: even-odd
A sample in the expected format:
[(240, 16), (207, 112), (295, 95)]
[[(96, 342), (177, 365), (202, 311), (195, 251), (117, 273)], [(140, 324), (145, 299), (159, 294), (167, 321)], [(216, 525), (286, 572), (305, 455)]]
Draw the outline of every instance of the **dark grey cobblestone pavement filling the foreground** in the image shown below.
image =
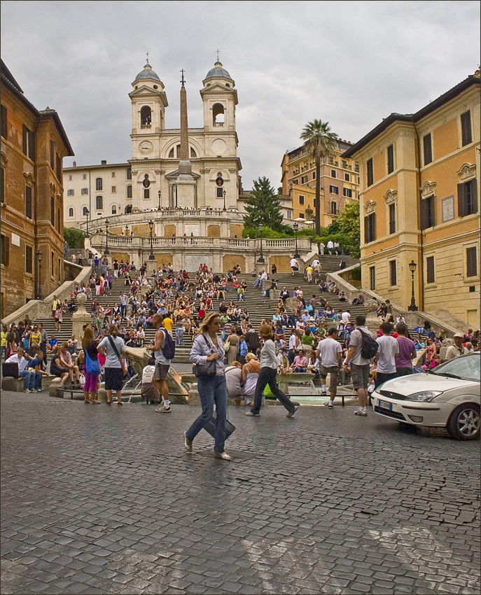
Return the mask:
[(197, 407), (1, 395), (1, 593), (473, 593), (479, 442), (283, 407), (214, 458)]

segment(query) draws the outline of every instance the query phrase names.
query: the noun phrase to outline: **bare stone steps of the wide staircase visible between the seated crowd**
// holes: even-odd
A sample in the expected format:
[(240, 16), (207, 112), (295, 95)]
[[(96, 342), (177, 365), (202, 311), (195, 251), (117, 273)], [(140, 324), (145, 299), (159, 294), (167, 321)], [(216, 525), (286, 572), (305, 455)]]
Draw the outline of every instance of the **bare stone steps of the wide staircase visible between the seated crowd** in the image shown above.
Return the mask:
[[(347, 266), (354, 264), (356, 260), (351, 259), (349, 257), (344, 256), (344, 260), (347, 262)], [(340, 256), (328, 256), (324, 255), (320, 257), (321, 260), (321, 280), (326, 280), (326, 274), (328, 272), (334, 272), (339, 269), (339, 262)], [(85, 261), (86, 262), (86, 261)], [(190, 272), (189, 277), (191, 279), (195, 279), (195, 272)], [(254, 287), (254, 281), (256, 278), (251, 276), (249, 273), (241, 273), (237, 275), (237, 279), (242, 281), (245, 279), (246, 281), (246, 292), (245, 292), (245, 299), (244, 301), (237, 301), (237, 290), (232, 289), (232, 283), (229, 283), (228, 290), (225, 293), (225, 303), (229, 304), (232, 300), (236, 305), (239, 304), (241, 309), (246, 309), (249, 312), (249, 323), (253, 325), (253, 328), (258, 328), (261, 321), (265, 318), (266, 321), (272, 321), (272, 315), (274, 314), (275, 310), (277, 309), (277, 303), (279, 300), (263, 297), (263, 289)], [(319, 290), (319, 287), (315, 285), (314, 281), (312, 283), (308, 283), (304, 275), (302, 273), (295, 273), (294, 275), (291, 273), (278, 273), (275, 275), (269, 274), (269, 279), (276, 279), (277, 281), (277, 288), (282, 289), (284, 287), (287, 288), (289, 295), (292, 295), (294, 288), (300, 287), (302, 289), (304, 299), (306, 303), (309, 303), (312, 295), (316, 295), (319, 299), (321, 295), (325, 300), (327, 300), (331, 307), (333, 308), (334, 312), (344, 311), (345, 309), (349, 309), (351, 313), (351, 320), (354, 321), (354, 318), (358, 314), (367, 314), (367, 310), (365, 306), (357, 305), (354, 306), (349, 304), (349, 302), (341, 302), (339, 297), (335, 295), (335, 293), (323, 293)], [(102, 307), (106, 307), (110, 305), (113, 307), (114, 304), (118, 303), (120, 293), (125, 291), (125, 293), (129, 292), (129, 287), (125, 286), (125, 281), (122, 278), (113, 279), (111, 293), (109, 295), (98, 295), (93, 296), (97, 300), (97, 303), (101, 304)], [(142, 293), (142, 288), (138, 293)], [(188, 295), (186, 293), (186, 295)], [(139, 301), (139, 295), (137, 295), (137, 301)], [(218, 307), (221, 303), (221, 300), (213, 300), (214, 302), (214, 310), (218, 311)], [(89, 298), (87, 302), (85, 302), (85, 309), (88, 312), (91, 311), (92, 299)], [(198, 300), (196, 300), (196, 306), (198, 306)], [(288, 311), (288, 309), (286, 309)], [(130, 307), (129, 307), (130, 311)], [(291, 314), (288, 311), (288, 314)], [(38, 318), (34, 322), (35, 323), (43, 323), (43, 328), (48, 332), (48, 336), (50, 338), (51, 335), (55, 335), (55, 338), (58, 340), (59, 343), (63, 341), (67, 341), (71, 337), (72, 332), (72, 319), (71, 313), (64, 313), (62, 315), (62, 325), (61, 330), (59, 332), (55, 332), (55, 321), (53, 318)], [(153, 341), (155, 336), (155, 330), (153, 328), (146, 328), (145, 329), (146, 339), (144, 341), (144, 345), (148, 345)], [(291, 334), (291, 328), (286, 328), (286, 337)], [(416, 333), (414, 333), (416, 334)], [(190, 353), (190, 346), (192, 345), (192, 338), (188, 333), (184, 332), (184, 342), (185, 346), (177, 346), (176, 347), (176, 357), (175, 362), (188, 362), (188, 356)], [(77, 337), (78, 338), (78, 337)], [(174, 336), (175, 338), (175, 336)]]

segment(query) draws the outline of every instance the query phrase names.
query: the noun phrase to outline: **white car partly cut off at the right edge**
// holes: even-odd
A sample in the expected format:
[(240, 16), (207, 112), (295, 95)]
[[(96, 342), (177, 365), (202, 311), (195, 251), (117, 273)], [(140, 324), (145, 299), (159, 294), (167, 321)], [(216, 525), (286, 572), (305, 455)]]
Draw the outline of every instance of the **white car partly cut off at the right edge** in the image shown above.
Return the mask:
[(371, 395), (375, 413), (412, 426), (446, 428), (456, 440), (480, 436), (480, 353), (430, 372), (388, 380)]

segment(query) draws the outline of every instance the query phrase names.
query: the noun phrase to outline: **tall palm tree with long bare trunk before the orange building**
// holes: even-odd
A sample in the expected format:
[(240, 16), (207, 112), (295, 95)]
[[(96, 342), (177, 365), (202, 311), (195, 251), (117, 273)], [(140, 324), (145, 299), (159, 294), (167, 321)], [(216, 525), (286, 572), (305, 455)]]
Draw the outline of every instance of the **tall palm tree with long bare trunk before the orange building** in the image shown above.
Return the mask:
[(328, 122), (314, 120), (309, 122), (300, 138), (311, 157), (316, 162), (316, 198), (314, 200), (314, 211), (316, 221), (316, 235), (321, 234), (321, 160), (334, 156), (334, 147), (337, 141), (337, 134), (330, 132)]

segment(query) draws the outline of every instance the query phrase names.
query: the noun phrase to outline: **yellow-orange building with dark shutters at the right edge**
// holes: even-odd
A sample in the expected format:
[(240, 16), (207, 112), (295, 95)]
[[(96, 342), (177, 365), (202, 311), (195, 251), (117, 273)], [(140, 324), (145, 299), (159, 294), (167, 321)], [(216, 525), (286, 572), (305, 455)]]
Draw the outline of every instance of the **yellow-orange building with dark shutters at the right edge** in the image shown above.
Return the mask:
[(392, 113), (344, 153), (361, 167), (363, 288), (480, 324), (480, 76)]

